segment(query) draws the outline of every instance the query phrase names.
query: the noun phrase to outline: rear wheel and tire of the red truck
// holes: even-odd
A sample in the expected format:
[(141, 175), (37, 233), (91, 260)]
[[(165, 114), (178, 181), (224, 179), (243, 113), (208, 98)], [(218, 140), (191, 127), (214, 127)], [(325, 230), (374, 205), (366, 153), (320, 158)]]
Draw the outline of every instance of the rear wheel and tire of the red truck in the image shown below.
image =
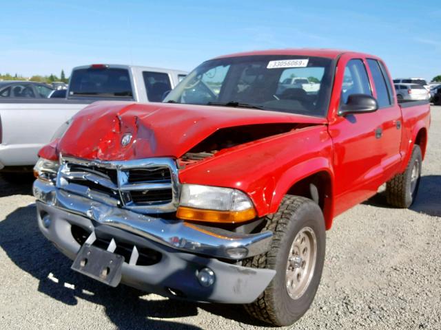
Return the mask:
[(420, 187), (422, 156), (420, 146), (413, 146), (404, 173), (398, 174), (386, 184), (387, 203), (396, 208), (409, 208), (415, 201)]

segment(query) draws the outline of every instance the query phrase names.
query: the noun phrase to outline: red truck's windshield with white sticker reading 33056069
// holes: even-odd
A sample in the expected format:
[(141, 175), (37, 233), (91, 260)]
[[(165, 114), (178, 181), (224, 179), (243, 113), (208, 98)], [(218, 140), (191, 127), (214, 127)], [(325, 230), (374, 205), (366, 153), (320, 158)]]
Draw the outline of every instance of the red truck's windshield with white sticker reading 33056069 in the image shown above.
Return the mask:
[(332, 63), (330, 58), (292, 55), (218, 58), (196, 67), (164, 102), (325, 116)]

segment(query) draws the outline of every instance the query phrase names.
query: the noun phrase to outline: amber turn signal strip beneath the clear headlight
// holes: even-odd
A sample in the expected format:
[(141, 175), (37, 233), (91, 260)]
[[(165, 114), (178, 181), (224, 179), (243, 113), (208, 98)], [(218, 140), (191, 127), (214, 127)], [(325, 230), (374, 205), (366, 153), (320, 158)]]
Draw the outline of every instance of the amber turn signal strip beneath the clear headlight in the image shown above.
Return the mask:
[(215, 211), (181, 206), (178, 208), (178, 212), (176, 212), (176, 217), (179, 219), (220, 223), (248, 221), (254, 219), (256, 215), (254, 208), (248, 208), (243, 211)]

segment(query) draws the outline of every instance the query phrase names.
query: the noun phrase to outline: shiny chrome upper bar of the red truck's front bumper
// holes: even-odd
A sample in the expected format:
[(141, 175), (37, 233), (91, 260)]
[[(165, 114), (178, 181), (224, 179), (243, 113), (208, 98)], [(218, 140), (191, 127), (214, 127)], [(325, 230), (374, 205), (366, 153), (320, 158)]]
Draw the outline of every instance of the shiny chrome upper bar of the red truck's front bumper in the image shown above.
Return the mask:
[[(37, 179), (33, 186), (34, 196), (50, 208), (65, 210), (92, 219), (102, 225), (119, 228), (145, 239), (167, 245), (176, 250), (193, 254), (205, 254), (216, 258), (240, 260), (262, 254), (269, 249), (272, 232), (239, 234), (205, 226), (189, 225), (182, 220), (166, 220), (139, 214), (123, 208), (108, 206), (90, 200)], [(49, 212), (50, 215), (50, 212)], [(245, 251), (244, 256), (228, 254), (230, 249)]]

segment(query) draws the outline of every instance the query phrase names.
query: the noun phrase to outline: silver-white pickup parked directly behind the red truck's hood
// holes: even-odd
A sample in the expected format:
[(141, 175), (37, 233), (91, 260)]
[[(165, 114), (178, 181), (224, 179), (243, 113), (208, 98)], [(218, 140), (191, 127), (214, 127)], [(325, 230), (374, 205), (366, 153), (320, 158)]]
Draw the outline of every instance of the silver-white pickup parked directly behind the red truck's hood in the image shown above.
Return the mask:
[(75, 67), (66, 98), (0, 98), (0, 175), (19, 181), (72, 115), (98, 100), (161, 102), (187, 72), (134, 65)]

